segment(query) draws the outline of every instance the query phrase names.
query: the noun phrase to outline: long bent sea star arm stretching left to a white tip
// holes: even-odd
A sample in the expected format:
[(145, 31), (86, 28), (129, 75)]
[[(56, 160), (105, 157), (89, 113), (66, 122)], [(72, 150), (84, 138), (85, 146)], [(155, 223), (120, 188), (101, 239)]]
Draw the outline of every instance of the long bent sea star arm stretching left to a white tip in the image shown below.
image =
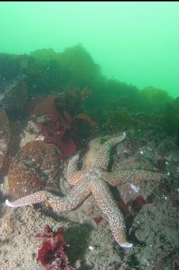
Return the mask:
[(87, 196), (89, 196), (90, 193), (89, 183), (82, 181), (79, 185), (73, 187), (70, 194), (65, 197), (59, 197), (50, 192), (40, 191), (26, 197), (22, 197), (21, 199), (17, 199), (14, 202), (9, 202), (9, 200), (6, 199), (6, 204), (9, 207), (22, 207), (28, 204), (36, 204), (38, 202), (46, 201), (47, 204), (55, 211), (63, 212), (77, 207), (84, 201), (84, 199), (86, 199)]

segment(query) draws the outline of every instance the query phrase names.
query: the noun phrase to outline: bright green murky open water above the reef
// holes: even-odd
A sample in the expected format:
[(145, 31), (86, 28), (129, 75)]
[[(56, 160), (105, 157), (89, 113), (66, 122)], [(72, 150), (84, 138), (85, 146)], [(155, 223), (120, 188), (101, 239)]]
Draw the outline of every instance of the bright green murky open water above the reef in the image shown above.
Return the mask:
[(1, 2), (1, 53), (82, 43), (109, 78), (179, 95), (178, 2)]

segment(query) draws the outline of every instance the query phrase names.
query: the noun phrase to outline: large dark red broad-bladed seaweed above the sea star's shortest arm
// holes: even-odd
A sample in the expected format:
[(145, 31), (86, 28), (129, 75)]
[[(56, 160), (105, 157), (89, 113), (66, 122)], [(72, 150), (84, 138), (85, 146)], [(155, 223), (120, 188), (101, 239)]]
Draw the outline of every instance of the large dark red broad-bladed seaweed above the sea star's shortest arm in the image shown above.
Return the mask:
[(72, 155), (77, 148), (77, 119), (86, 120), (91, 126), (97, 125), (89, 115), (77, 113), (87, 95), (88, 88), (81, 93), (72, 88), (60, 95), (49, 95), (33, 110), (36, 116), (49, 115), (48, 120), (38, 123), (38, 128), (45, 142), (58, 146), (59, 159)]

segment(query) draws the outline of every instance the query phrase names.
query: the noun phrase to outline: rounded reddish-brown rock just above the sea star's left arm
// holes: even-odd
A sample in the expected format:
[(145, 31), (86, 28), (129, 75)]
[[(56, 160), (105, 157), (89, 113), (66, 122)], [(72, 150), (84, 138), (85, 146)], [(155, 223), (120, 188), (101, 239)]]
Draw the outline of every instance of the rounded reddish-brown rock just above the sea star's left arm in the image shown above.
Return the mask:
[(41, 189), (53, 189), (59, 176), (58, 147), (42, 141), (28, 142), (11, 160), (9, 189), (13, 199)]

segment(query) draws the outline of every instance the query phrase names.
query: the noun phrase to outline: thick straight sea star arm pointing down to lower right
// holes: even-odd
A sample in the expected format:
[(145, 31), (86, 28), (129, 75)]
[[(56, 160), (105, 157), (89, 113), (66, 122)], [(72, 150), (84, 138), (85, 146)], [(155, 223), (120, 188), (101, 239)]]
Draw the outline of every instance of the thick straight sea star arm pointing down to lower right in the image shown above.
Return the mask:
[(116, 242), (122, 247), (131, 247), (132, 244), (126, 240), (126, 227), (123, 214), (114, 201), (107, 183), (102, 179), (97, 180), (92, 183), (91, 190), (98, 206), (109, 219), (109, 224)]

